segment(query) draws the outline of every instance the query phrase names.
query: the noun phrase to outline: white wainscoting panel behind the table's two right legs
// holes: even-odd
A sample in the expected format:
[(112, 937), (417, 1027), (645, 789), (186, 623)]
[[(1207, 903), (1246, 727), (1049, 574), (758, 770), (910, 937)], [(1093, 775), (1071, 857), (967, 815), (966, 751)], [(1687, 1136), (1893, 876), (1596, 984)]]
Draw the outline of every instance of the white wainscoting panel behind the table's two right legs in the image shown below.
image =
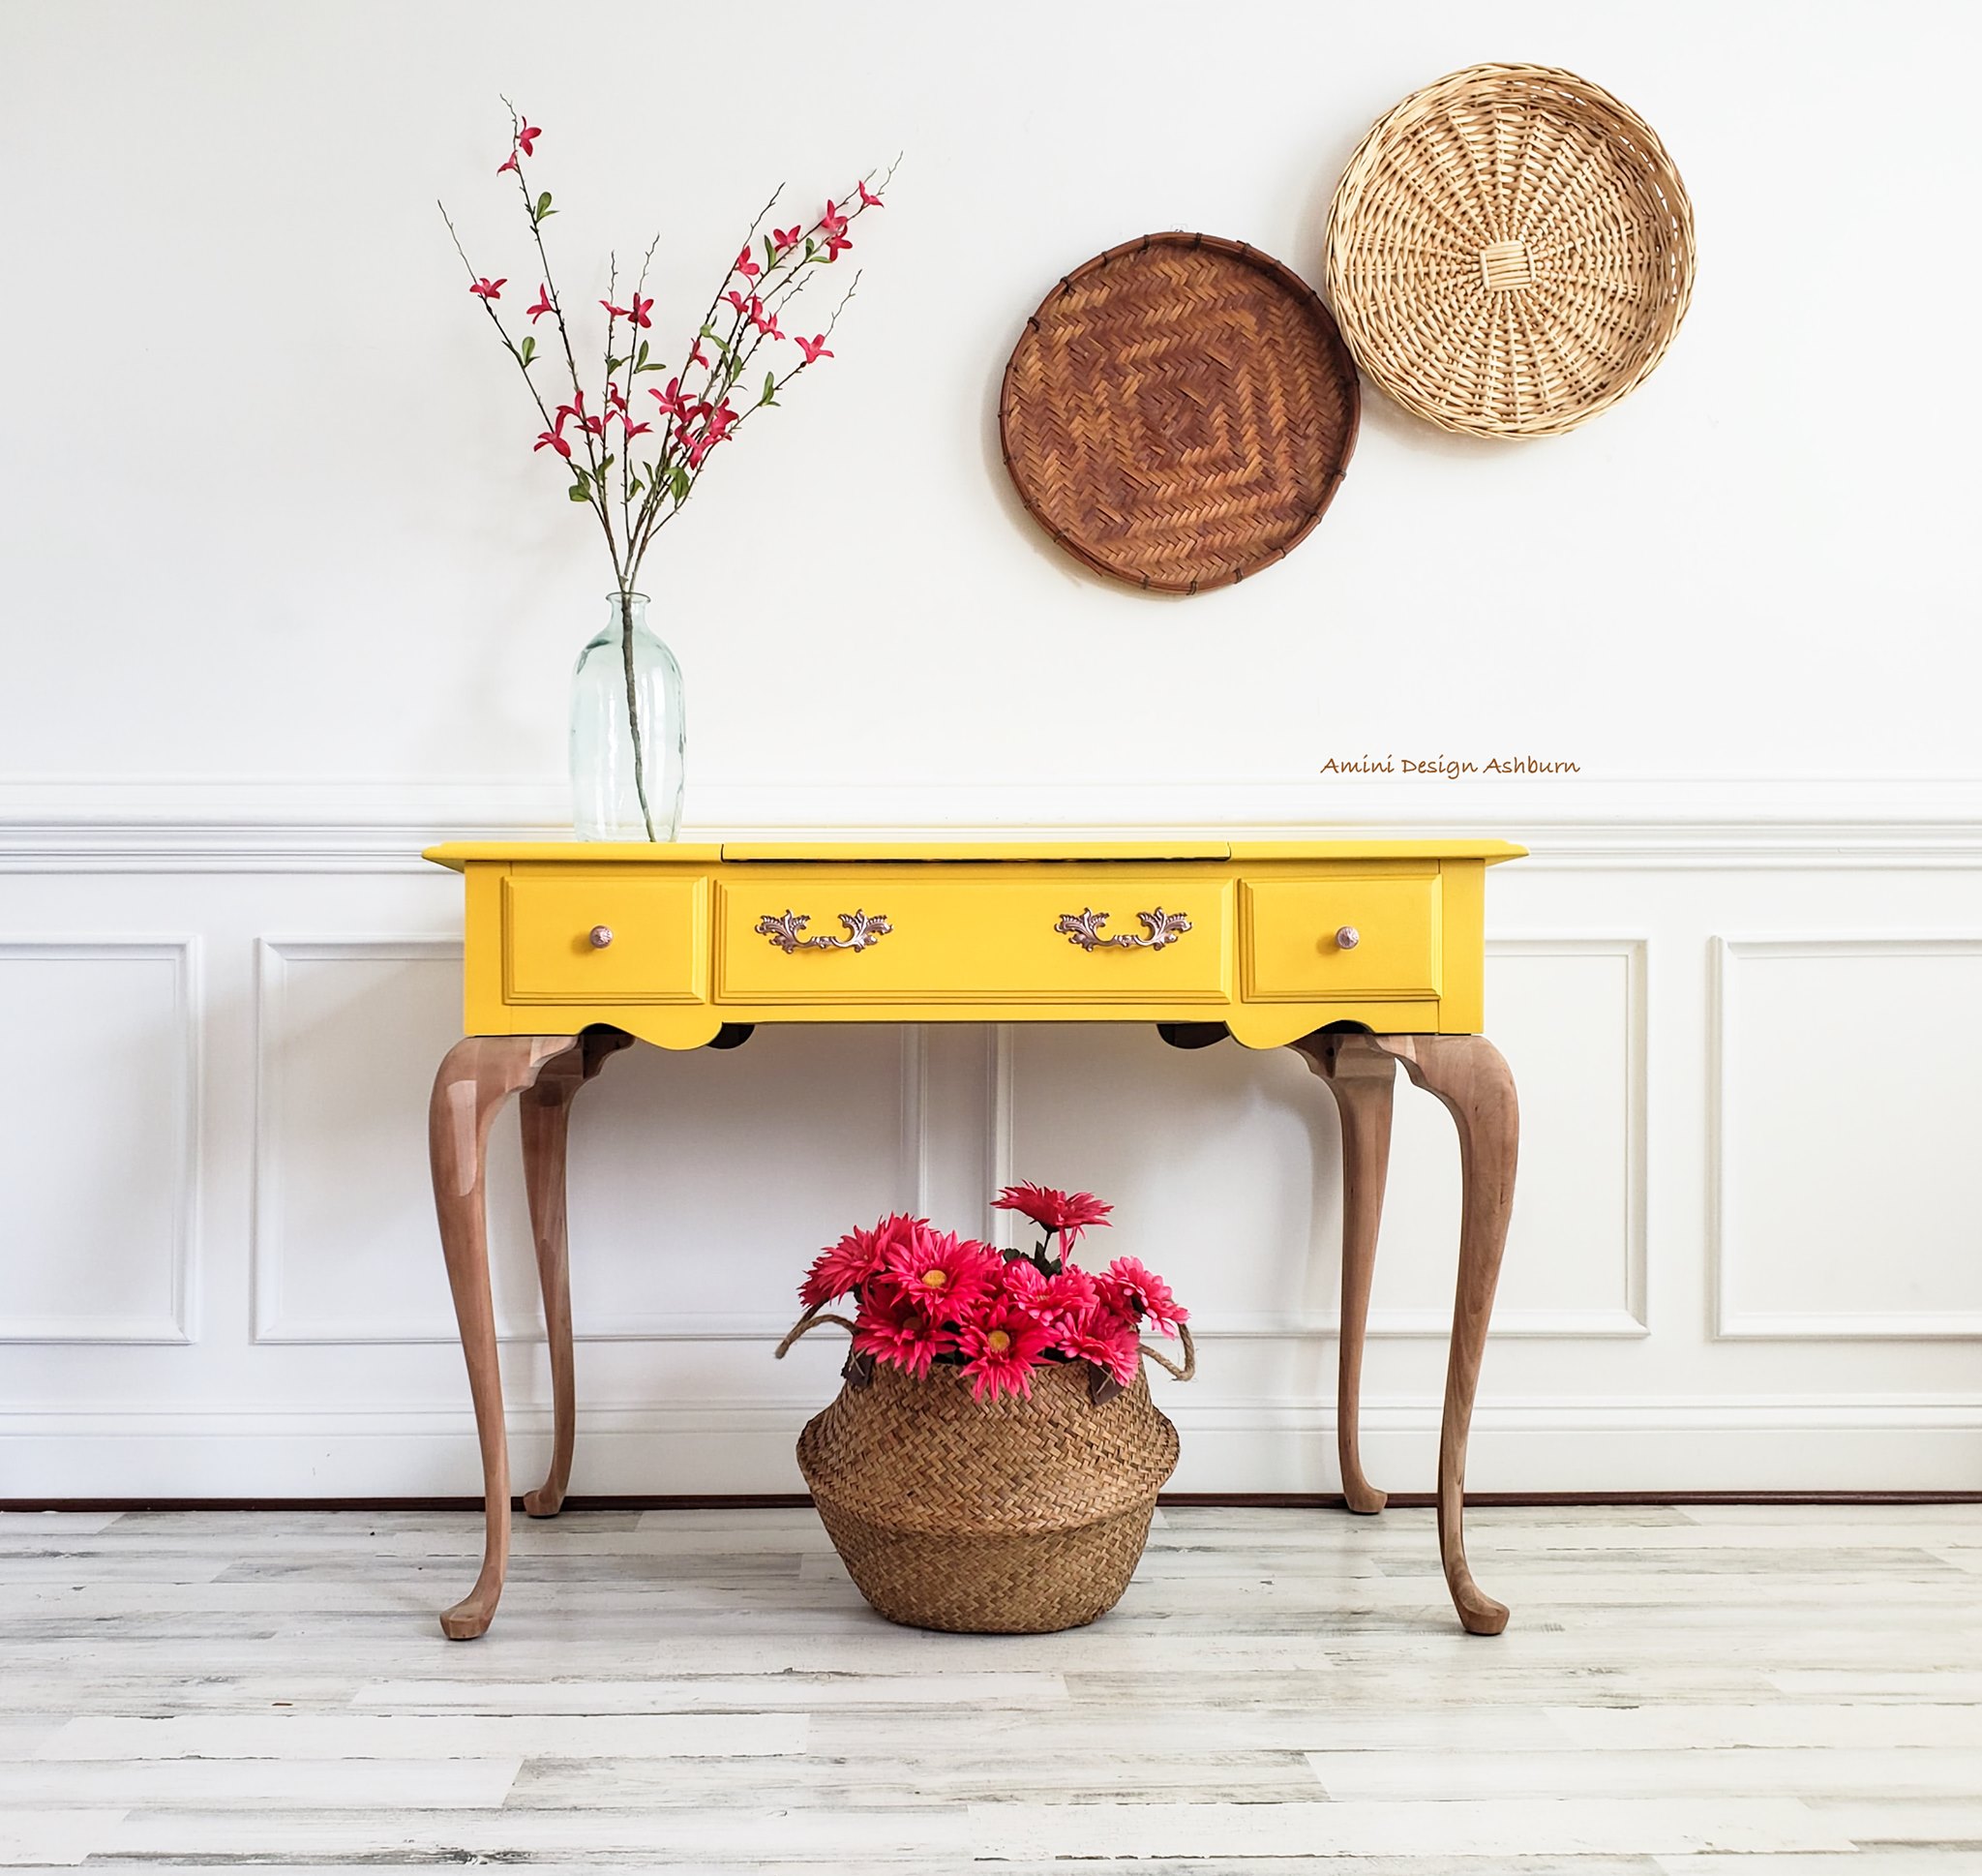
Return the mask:
[[(1641, 1337), (1645, 940), (1508, 938), (1490, 958), (1492, 1033), (1522, 1107), (1494, 1333)], [(1090, 1257), (1134, 1251), (1181, 1289), (1215, 1273), (1215, 1301), (1193, 1319), (1209, 1341), (1336, 1335), (1342, 1136), (1300, 1057), (1011, 1025), (999, 1061), (1013, 1116), (1001, 1182), (1134, 1194), (1114, 1230), (1090, 1235)], [(1399, 1069), (1372, 1337), (1447, 1337), (1457, 1222), (1453, 1124)]]

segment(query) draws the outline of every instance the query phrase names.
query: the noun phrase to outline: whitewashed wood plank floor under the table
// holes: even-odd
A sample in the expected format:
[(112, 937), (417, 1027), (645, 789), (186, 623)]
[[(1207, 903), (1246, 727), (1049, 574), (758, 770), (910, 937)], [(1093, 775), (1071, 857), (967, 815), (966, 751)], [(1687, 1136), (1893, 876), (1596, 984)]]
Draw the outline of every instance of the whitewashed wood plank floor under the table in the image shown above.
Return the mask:
[(809, 1511), (0, 1517), (0, 1862), (1982, 1872), (1982, 1507), (1169, 1511), (1066, 1636), (872, 1616)]

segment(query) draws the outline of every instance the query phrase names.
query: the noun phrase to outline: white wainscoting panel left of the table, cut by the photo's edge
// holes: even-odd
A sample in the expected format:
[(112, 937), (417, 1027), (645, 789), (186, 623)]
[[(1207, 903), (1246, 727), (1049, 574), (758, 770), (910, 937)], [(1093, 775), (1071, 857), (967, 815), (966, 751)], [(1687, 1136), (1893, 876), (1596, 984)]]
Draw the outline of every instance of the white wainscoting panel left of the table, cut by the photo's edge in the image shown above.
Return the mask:
[(196, 938), (0, 934), (0, 1341), (188, 1343)]

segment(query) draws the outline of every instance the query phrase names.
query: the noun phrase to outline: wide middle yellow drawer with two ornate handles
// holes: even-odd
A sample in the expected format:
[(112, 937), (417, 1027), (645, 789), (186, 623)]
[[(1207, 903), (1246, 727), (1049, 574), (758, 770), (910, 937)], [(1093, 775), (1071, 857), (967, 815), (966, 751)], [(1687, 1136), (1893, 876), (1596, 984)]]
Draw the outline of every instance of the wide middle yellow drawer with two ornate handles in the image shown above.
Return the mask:
[[(858, 914), (868, 920), (864, 934)], [(1150, 942), (1161, 930), (1159, 914), (1171, 920), (1161, 944)], [(721, 880), (716, 996), (753, 1005), (1229, 1003), (1231, 934), (1229, 879), (1102, 869), (1054, 869), (1052, 879), (765, 869)], [(854, 948), (860, 936), (866, 942)], [(821, 938), (825, 946), (815, 942)]]

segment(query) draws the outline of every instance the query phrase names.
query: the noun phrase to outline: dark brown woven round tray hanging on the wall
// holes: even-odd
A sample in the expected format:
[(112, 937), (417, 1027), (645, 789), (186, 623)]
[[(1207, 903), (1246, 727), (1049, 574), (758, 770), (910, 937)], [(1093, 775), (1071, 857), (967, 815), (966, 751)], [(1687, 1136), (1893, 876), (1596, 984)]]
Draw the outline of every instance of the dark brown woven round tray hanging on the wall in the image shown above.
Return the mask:
[(999, 393), (1019, 500), (1157, 593), (1282, 559), (1356, 448), (1356, 365), (1314, 290), (1243, 242), (1146, 234), (1068, 274)]

